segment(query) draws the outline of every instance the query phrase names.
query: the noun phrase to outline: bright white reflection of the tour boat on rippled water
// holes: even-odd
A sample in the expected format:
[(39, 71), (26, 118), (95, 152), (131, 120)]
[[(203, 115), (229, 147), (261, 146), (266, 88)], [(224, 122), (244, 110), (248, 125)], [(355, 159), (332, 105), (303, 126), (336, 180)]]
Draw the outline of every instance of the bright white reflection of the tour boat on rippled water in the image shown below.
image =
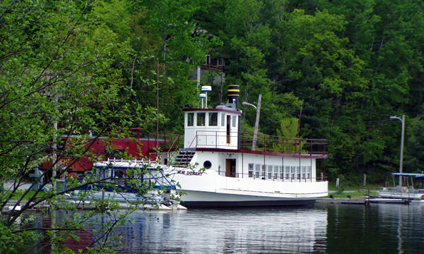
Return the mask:
[(326, 210), (189, 210), (132, 215), (119, 253), (325, 253)]

